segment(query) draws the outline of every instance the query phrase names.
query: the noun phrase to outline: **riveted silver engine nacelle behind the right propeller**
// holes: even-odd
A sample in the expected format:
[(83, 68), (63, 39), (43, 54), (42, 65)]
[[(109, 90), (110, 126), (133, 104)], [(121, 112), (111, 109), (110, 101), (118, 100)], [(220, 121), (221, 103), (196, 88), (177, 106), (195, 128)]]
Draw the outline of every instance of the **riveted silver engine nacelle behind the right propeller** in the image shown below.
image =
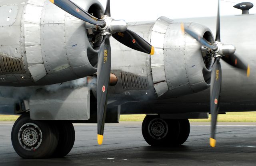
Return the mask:
[[(184, 22), (207, 41), (214, 38), (210, 29)], [(196, 40), (181, 31), (181, 22), (160, 17), (156, 22), (130, 23), (129, 29), (155, 47), (148, 55), (112, 40), (111, 72), (117, 83), (110, 86), (110, 99), (143, 101), (179, 97), (210, 87), (212, 58)]]

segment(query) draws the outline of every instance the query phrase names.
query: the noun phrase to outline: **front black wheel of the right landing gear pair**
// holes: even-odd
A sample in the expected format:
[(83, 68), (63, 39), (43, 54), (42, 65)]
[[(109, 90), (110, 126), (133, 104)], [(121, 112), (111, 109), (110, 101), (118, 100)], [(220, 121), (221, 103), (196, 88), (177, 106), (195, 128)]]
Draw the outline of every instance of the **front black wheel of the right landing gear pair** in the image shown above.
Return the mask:
[(142, 123), (142, 135), (151, 146), (174, 146), (179, 134), (180, 123), (176, 119), (147, 115)]

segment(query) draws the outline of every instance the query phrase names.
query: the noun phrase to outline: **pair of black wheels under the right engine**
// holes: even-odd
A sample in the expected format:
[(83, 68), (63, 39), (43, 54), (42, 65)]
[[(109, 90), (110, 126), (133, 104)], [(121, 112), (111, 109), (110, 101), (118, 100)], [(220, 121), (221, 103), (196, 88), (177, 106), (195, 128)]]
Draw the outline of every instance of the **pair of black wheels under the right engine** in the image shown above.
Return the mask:
[(142, 135), (151, 146), (179, 146), (190, 133), (188, 119), (161, 119), (147, 115), (142, 123)]

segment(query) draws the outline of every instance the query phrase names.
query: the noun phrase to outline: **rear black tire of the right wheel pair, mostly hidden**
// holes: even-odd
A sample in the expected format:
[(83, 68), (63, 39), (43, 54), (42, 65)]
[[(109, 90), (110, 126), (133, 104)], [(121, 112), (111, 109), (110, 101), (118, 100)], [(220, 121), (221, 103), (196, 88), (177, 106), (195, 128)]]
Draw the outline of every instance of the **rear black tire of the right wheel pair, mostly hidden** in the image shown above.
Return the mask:
[(177, 145), (182, 145), (188, 139), (190, 133), (190, 123), (188, 119), (179, 119), (180, 122), (180, 135)]

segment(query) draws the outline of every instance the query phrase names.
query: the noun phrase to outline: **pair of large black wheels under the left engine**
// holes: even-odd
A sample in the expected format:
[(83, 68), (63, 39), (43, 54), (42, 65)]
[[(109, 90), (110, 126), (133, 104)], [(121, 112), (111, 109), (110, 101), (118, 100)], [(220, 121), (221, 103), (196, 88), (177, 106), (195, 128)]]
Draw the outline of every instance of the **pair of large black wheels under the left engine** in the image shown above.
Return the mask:
[(35, 121), (21, 115), (12, 127), (12, 146), (22, 158), (64, 157), (75, 141), (70, 122)]

